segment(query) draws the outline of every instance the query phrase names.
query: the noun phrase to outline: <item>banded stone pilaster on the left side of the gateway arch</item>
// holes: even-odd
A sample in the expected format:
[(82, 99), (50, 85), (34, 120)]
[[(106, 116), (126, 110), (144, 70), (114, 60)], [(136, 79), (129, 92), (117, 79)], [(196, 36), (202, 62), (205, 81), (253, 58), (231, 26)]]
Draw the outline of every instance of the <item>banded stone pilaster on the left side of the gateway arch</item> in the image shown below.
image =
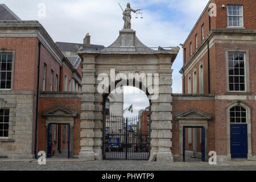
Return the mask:
[(95, 55), (84, 56), (82, 69), (82, 105), (81, 105), (81, 151), (80, 159), (94, 160), (95, 136)]

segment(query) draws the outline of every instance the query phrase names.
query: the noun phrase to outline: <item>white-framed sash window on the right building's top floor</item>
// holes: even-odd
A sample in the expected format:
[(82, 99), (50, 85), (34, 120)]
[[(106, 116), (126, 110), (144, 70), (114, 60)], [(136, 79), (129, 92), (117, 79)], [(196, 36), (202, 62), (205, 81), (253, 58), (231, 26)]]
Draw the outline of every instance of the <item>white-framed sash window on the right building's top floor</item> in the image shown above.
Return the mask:
[(243, 27), (243, 6), (228, 5), (228, 27)]

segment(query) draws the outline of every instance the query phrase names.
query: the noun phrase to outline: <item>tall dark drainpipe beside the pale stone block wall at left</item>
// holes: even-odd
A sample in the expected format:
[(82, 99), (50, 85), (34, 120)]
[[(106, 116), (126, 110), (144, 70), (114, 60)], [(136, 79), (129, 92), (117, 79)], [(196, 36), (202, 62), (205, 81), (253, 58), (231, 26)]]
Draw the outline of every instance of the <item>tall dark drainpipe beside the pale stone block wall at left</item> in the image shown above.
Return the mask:
[(37, 154), (37, 144), (38, 144), (38, 105), (39, 105), (39, 75), (40, 75), (40, 53), (41, 53), (41, 42), (38, 42), (38, 84), (36, 87), (36, 122), (35, 122), (35, 158), (38, 158)]

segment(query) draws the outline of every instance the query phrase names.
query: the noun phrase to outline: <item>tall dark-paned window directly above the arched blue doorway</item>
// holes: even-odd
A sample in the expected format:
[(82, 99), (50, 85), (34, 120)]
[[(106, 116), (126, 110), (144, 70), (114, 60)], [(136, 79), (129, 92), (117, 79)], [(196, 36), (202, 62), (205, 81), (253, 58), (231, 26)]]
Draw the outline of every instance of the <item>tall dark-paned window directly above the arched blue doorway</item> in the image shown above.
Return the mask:
[(245, 91), (245, 54), (229, 52), (229, 90)]

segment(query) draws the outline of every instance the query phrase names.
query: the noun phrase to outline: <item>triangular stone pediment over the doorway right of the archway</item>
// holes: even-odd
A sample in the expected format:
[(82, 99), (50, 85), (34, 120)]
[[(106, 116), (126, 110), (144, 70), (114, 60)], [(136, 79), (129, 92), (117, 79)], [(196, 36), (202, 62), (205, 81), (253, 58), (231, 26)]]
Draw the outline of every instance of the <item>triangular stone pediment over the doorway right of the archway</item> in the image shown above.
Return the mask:
[(212, 118), (212, 115), (204, 113), (197, 109), (189, 109), (175, 115), (176, 119), (204, 119), (208, 120)]

